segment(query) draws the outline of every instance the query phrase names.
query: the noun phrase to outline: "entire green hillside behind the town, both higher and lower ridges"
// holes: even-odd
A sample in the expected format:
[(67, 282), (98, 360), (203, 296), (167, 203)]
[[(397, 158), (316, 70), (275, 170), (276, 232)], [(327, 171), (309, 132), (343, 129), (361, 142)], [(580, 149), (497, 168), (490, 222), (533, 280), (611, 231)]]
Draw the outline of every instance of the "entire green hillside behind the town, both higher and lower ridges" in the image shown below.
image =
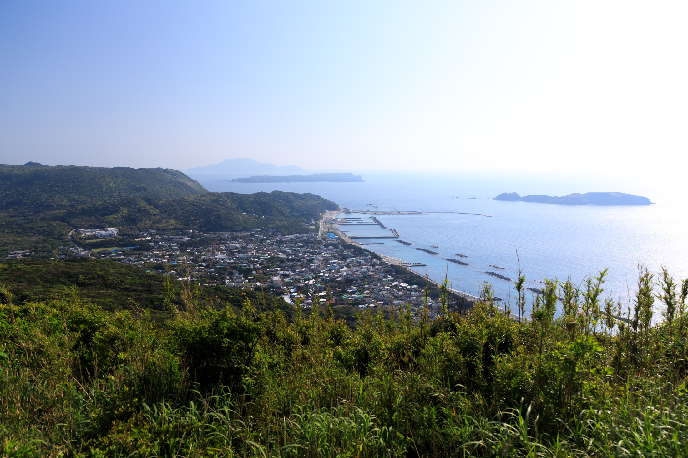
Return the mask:
[(314, 194), (208, 192), (172, 169), (0, 164), (0, 255), (50, 252), (71, 227), (304, 233), (336, 208)]

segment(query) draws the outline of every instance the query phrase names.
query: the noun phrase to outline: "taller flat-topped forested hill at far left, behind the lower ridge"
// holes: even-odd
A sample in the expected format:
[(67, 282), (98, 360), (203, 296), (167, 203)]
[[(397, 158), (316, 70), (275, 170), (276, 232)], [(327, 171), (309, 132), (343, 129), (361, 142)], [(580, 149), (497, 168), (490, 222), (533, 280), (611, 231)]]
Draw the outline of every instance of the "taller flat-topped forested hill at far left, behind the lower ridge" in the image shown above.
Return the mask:
[(129, 197), (174, 199), (207, 192), (166, 168), (0, 165), (0, 210), (50, 211)]

